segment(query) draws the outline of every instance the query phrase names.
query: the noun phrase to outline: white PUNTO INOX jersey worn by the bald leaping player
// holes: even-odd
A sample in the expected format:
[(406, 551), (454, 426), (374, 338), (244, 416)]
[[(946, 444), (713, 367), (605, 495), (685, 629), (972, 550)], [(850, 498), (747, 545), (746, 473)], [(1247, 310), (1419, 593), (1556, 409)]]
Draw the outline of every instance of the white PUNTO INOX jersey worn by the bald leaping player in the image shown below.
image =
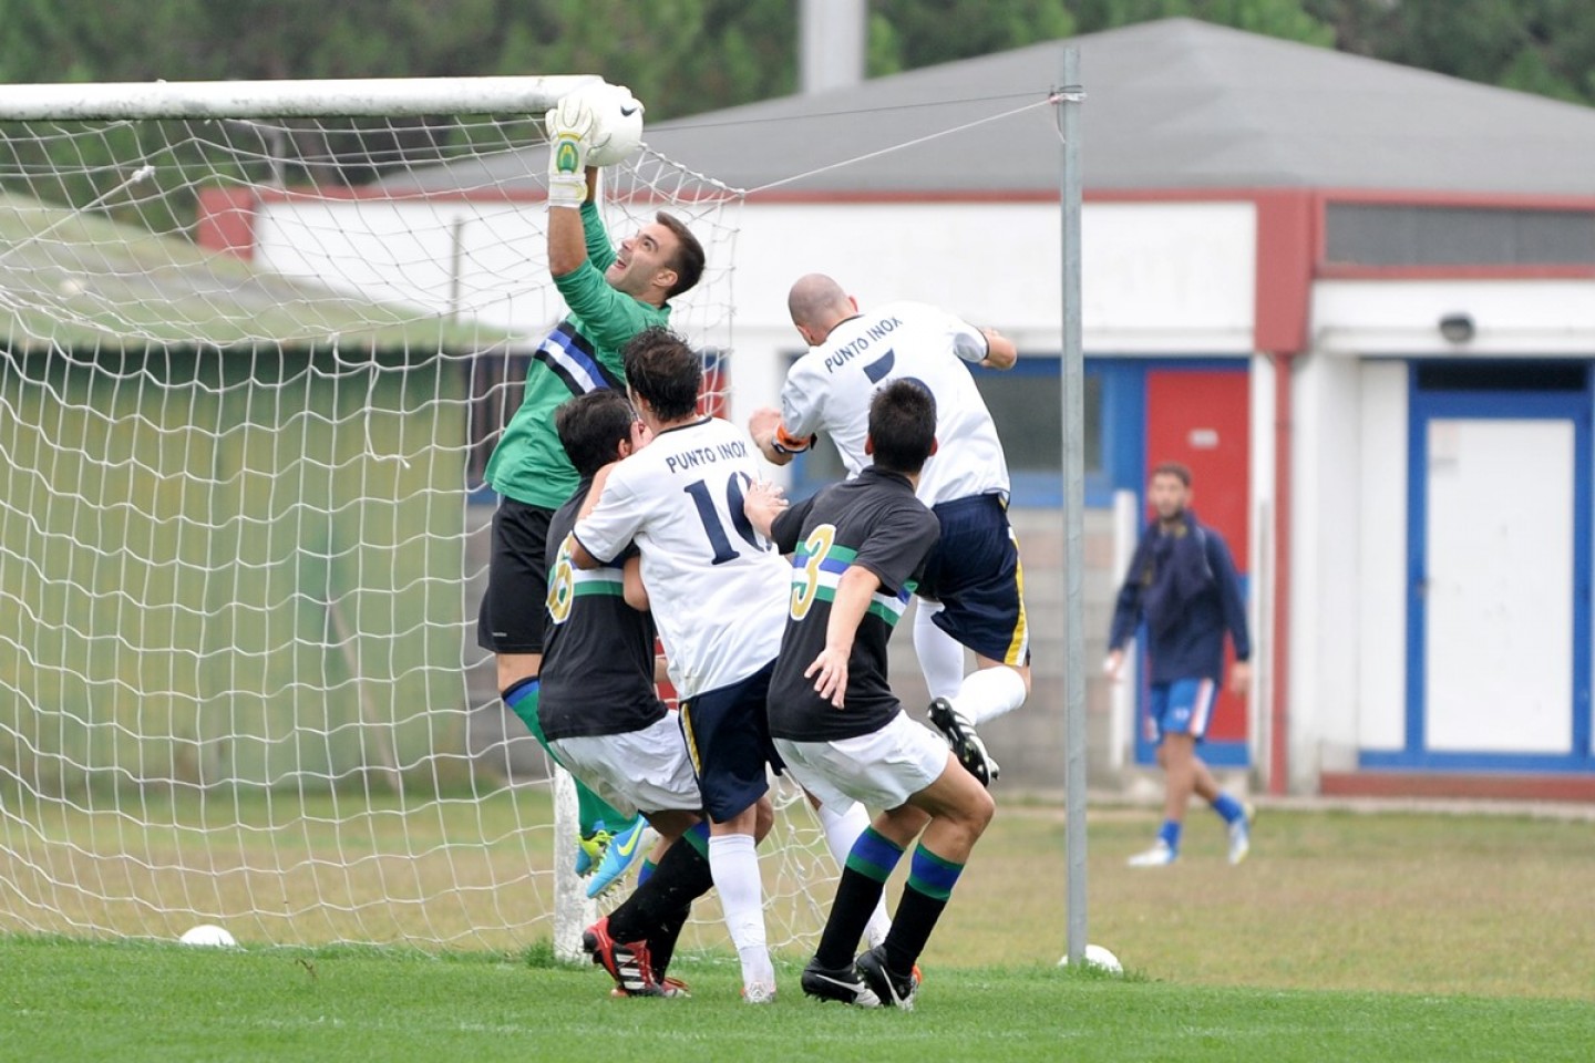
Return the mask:
[(936, 397), (936, 453), (920, 475), (919, 500), (1008, 497), (997, 426), (965, 365), (984, 357), (986, 336), (973, 325), (924, 303), (887, 303), (841, 322), (793, 363), (782, 389), (782, 427), (794, 437), (831, 437), (847, 475), (857, 477), (871, 464), (864, 437), (876, 389), (914, 378)]

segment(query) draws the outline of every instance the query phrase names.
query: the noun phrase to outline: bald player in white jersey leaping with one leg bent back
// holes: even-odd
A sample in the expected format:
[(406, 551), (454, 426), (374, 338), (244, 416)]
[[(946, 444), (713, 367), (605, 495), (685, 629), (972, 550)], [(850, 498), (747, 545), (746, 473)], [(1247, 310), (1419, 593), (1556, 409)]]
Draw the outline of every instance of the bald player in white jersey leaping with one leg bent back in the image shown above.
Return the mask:
[[(869, 465), (869, 400), (893, 379), (917, 379), (936, 398), (936, 453), (917, 496), (941, 521), (941, 542), (920, 585), (914, 650), (930, 688), (930, 719), (981, 783), (997, 778), (976, 727), (1030, 692), (1024, 574), (1008, 524), (1008, 464), (970, 365), (1006, 370), (1018, 351), (924, 303), (860, 311), (825, 274), (793, 284), (788, 309), (809, 352), (786, 375), (782, 408), (758, 410), (748, 429), (764, 457), (785, 465), (831, 437), (849, 475)], [(962, 645), (960, 645), (962, 644)], [(963, 645), (978, 668), (963, 674)]]

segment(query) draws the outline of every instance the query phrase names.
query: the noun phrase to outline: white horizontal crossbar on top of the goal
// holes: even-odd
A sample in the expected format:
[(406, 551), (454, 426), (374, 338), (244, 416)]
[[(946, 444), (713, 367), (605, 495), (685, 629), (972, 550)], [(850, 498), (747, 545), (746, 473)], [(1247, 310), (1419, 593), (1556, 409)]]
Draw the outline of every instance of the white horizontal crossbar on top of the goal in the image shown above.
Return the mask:
[(0, 121), (541, 113), (595, 75), (10, 84)]

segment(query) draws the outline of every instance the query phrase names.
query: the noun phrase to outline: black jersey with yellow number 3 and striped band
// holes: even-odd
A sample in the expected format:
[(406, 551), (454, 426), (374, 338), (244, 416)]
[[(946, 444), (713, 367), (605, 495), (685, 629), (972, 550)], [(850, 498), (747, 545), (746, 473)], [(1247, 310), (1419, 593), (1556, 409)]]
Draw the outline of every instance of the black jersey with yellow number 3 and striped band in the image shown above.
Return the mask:
[[(906, 477), (868, 467), (782, 513), (772, 535), (782, 553), (793, 555), (793, 590), (770, 679), (770, 735), (833, 741), (879, 730), (901, 708), (887, 684), (887, 642), (941, 535), (936, 516)], [(825, 649), (831, 602), (852, 566), (874, 572), (880, 586), (853, 636), (845, 706), (837, 709), (804, 671)]]

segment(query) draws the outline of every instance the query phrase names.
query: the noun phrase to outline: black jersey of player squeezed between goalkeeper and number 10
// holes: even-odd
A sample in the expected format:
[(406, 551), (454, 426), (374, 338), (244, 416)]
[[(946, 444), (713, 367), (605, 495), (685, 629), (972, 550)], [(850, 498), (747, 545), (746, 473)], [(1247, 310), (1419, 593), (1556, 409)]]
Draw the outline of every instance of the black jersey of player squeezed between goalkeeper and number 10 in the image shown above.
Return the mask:
[(636, 550), (598, 569), (571, 564), (571, 526), (590, 486), (582, 480), (549, 521), (549, 628), (538, 696), (549, 739), (624, 735), (668, 711), (654, 687), (654, 620), (624, 598), (622, 567)]

